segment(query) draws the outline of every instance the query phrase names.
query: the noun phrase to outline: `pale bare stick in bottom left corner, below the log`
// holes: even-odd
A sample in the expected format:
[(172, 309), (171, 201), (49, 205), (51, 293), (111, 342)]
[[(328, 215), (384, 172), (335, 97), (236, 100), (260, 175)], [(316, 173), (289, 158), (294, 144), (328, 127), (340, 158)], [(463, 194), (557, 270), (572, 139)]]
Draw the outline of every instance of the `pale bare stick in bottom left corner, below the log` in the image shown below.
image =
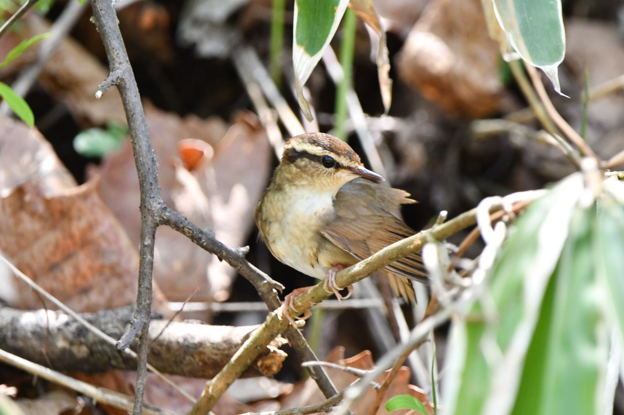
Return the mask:
[[(26, 359), (22, 359), (16, 355), (12, 355), (9, 352), (5, 352), (0, 349), (0, 360), (11, 366), (15, 366), (21, 370), (32, 373), (35, 376), (39, 376), (45, 380), (56, 383), (57, 385), (65, 386), (86, 396), (89, 396), (94, 401), (99, 403), (105, 403), (115, 408), (124, 409), (124, 411), (132, 411), (134, 404), (130, 396), (122, 393), (117, 393), (105, 388), (98, 388), (97, 386), (89, 385), (67, 375), (63, 375), (57, 371), (46, 368), (45, 366), (37, 365)], [(154, 406), (144, 405), (143, 411), (149, 415), (175, 415), (174, 412), (167, 411), (166, 409), (156, 408)]]

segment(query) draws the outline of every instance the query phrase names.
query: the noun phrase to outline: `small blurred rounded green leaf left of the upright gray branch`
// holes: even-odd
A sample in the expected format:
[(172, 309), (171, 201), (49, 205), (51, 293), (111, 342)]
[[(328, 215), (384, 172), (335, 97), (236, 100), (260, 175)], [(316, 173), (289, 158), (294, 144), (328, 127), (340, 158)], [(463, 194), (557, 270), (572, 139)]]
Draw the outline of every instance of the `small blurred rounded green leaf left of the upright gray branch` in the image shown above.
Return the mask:
[(117, 151), (128, 130), (119, 124), (109, 123), (106, 129), (89, 128), (74, 138), (74, 149), (84, 157), (104, 157)]

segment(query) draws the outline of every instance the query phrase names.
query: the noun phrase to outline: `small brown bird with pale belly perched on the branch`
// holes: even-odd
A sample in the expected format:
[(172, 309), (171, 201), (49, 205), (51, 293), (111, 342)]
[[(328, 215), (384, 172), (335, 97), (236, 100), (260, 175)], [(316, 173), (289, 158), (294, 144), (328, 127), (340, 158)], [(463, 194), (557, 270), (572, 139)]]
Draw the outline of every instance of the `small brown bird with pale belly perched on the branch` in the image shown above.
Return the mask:
[[(362, 178), (384, 180), (364, 168), (346, 142), (329, 134), (301, 134), (286, 141), (280, 165), (256, 206), (256, 225), (271, 254), (324, 279), (325, 290), (338, 299), (348, 297), (336, 287), (339, 271), (416, 233), (399, 217), (402, 204), (416, 202), (409, 193)], [(382, 272), (394, 294), (407, 301), (414, 301), (408, 279), (427, 280), (416, 254)], [(292, 299), (306, 289), (286, 296), (284, 309), (292, 309)], [(294, 322), (290, 312), (286, 317)]]

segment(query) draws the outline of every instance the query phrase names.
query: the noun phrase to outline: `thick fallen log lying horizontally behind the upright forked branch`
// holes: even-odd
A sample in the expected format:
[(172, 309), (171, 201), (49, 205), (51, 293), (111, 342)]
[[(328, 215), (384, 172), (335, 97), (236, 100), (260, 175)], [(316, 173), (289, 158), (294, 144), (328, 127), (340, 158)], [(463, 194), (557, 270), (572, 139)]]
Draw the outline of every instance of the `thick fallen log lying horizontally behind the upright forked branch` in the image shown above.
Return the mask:
[[(119, 338), (133, 312), (134, 307), (122, 307), (82, 317), (110, 337)], [(158, 315), (154, 318), (149, 329), (150, 363), (163, 373), (194, 378), (215, 376), (258, 327), (168, 322)], [(243, 376), (275, 375), (286, 358), (286, 353), (277, 350), (283, 343), (285, 340), (278, 339), (276, 348), (266, 348)], [(130, 348), (136, 347), (137, 342), (130, 344)], [(0, 349), (57, 371), (102, 373), (137, 368), (136, 359), (103, 343), (99, 336), (61, 311), (0, 308)]]

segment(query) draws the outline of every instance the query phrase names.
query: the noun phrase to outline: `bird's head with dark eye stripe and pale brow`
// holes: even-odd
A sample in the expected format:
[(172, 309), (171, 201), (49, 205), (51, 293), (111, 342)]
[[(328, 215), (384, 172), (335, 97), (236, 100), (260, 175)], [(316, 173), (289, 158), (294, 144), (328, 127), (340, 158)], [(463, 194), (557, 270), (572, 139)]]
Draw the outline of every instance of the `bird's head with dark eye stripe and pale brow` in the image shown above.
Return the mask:
[(283, 180), (338, 192), (356, 177), (384, 180), (366, 169), (358, 154), (344, 141), (323, 133), (306, 133), (286, 141), (280, 167)]

